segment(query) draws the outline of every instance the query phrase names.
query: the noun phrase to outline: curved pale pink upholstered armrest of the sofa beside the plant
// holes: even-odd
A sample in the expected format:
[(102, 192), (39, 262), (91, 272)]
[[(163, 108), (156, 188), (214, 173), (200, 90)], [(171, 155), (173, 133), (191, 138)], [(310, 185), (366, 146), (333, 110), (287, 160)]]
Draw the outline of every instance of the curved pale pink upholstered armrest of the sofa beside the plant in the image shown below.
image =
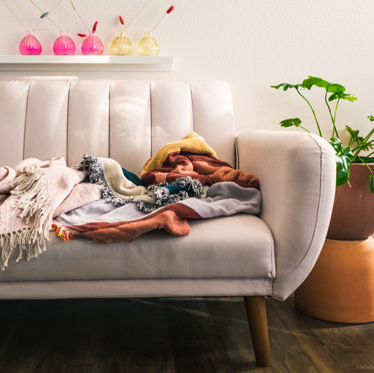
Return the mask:
[(236, 135), (237, 168), (260, 181), (260, 218), (275, 245), (273, 296), (284, 300), (312, 270), (324, 244), (335, 195), (335, 152), (316, 135), (245, 130)]

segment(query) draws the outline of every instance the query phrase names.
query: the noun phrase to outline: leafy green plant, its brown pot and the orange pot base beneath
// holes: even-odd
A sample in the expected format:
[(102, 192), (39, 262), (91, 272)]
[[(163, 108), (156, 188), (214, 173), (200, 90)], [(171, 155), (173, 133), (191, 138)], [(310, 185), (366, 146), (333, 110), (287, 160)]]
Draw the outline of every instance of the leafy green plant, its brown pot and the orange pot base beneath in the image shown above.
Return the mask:
[[(301, 84), (282, 83), (273, 88), (295, 89), (312, 110), (322, 137), (316, 113), (303, 95), (313, 86), (324, 89), (332, 130), (330, 144), (336, 154), (336, 192), (327, 239), (315, 266), (295, 291), (295, 307), (304, 314), (336, 322), (374, 321), (374, 128), (365, 136), (346, 125), (349, 141), (343, 145), (336, 128), (341, 100), (356, 101), (337, 83), (309, 76)], [(336, 104), (335, 104), (336, 101)], [(334, 112), (330, 104), (334, 103)], [(373, 116), (368, 116), (374, 121)], [(282, 120), (282, 127), (301, 126), (299, 118)]]

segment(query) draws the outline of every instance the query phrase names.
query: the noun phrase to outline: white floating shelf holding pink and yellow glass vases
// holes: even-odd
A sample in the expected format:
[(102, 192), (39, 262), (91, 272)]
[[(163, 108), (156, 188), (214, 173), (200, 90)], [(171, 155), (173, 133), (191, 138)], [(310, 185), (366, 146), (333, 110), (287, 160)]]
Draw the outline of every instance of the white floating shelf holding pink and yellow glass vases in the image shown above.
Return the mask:
[(172, 56), (0, 55), (0, 71), (171, 71)]

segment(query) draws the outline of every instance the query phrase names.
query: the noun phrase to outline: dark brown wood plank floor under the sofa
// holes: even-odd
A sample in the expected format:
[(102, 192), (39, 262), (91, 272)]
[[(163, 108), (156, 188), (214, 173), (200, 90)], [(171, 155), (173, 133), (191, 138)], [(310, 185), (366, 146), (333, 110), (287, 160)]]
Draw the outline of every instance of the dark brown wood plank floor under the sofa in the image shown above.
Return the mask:
[(0, 372), (374, 372), (374, 323), (266, 304), (272, 366), (259, 368), (242, 298), (1, 300)]

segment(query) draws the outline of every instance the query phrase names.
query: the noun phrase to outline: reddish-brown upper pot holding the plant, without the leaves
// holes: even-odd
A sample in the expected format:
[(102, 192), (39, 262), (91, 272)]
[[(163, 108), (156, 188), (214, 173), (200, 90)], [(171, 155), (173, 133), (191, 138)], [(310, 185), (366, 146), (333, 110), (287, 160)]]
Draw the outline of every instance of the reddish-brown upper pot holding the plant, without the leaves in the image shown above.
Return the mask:
[[(368, 163), (374, 172), (374, 163)], [(374, 194), (368, 189), (368, 168), (363, 163), (350, 166), (349, 182), (336, 188), (327, 238), (366, 239), (374, 233)]]

